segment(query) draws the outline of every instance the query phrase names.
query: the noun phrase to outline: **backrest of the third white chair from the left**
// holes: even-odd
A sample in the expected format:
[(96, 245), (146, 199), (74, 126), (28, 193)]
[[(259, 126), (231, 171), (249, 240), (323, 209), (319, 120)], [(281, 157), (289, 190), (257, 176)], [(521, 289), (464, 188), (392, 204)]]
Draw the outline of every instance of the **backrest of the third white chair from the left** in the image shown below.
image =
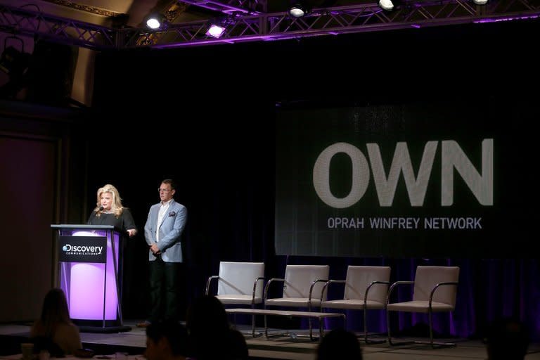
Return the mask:
[[(344, 299), (364, 300), (366, 289), (373, 281), (390, 281), (390, 266), (353, 266), (347, 267)], [(385, 303), (388, 285), (373, 285), (368, 293), (368, 300)]]

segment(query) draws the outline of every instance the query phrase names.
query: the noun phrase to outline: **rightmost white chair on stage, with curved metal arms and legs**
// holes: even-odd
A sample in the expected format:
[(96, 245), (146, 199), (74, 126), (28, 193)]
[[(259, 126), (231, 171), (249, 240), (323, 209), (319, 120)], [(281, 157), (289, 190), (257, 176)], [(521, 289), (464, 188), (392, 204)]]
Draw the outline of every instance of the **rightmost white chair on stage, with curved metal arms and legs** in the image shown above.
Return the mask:
[[(432, 347), (456, 346), (453, 342), (434, 342), (432, 313), (454, 311), (456, 307), (456, 294), (458, 289), (459, 267), (458, 266), (417, 266), (414, 281), (396, 281), (388, 290), (386, 303), (386, 321), (388, 342), (390, 345), (402, 345), (400, 342), (393, 343), (390, 335), (390, 311), (407, 311), (428, 313), (430, 327), (430, 341), (414, 341), (417, 344), (429, 344)], [(397, 285), (414, 285), (411, 301), (390, 303), (390, 295)]]

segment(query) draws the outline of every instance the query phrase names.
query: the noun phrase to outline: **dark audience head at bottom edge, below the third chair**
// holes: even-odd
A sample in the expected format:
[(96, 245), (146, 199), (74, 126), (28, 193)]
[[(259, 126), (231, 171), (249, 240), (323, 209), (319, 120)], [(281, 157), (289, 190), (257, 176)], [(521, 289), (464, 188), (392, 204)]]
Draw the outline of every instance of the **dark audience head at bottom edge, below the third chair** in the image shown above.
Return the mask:
[(317, 360), (361, 360), (362, 349), (354, 333), (335, 329), (324, 335), (317, 347)]

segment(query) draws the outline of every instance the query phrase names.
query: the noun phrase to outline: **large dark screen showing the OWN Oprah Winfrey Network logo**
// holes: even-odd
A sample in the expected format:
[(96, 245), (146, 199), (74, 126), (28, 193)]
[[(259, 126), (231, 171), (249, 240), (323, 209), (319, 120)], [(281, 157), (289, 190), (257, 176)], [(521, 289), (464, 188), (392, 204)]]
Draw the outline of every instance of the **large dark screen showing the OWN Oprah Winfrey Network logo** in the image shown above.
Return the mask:
[(279, 111), (276, 252), (536, 257), (539, 117), (501, 98)]

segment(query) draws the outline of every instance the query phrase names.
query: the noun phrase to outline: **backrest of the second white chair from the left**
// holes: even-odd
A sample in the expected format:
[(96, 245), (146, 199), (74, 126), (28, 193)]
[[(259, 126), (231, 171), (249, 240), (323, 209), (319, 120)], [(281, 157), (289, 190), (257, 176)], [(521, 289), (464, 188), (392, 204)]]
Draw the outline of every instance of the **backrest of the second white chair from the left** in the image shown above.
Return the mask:
[[(328, 265), (287, 265), (283, 297), (309, 297), (311, 283), (316, 280), (328, 280)], [(324, 282), (316, 283), (311, 293), (312, 299), (320, 299)], [(326, 295), (323, 298), (326, 300)]]

